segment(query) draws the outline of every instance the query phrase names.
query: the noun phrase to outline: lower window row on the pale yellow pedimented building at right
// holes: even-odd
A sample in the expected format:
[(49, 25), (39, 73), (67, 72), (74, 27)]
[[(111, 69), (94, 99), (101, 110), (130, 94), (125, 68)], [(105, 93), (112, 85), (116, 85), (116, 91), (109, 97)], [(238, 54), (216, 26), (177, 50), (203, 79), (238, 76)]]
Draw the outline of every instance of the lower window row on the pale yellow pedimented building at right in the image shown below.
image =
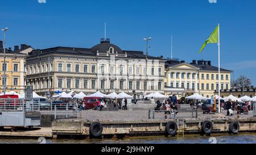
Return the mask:
[[(190, 89), (190, 83), (187, 83), (187, 89)], [(205, 89), (206, 86), (206, 89)], [(171, 82), (171, 87), (174, 87), (174, 82)], [(176, 87), (180, 87), (180, 83), (176, 82)], [(181, 88), (185, 88), (185, 83), (181, 83)], [(192, 89), (195, 90), (195, 83), (192, 83)], [(197, 89), (199, 89), (199, 83), (197, 83)], [(225, 87), (226, 90), (229, 89), (229, 84), (226, 84)], [(214, 90), (214, 84), (211, 85), (209, 88), (209, 84), (207, 83), (206, 85), (204, 83), (201, 83), (201, 90)], [(218, 84), (216, 84), (216, 90), (218, 90)], [(224, 90), (224, 84), (221, 84), (221, 90)]]

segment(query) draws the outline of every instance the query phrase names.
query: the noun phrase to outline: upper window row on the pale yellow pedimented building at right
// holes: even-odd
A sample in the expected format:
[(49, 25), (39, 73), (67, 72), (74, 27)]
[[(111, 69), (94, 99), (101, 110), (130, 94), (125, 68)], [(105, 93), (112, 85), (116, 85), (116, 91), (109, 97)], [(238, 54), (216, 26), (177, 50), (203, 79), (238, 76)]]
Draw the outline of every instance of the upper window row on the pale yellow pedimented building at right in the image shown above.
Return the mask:
[[(185, 78), (185, 73), (176, 73), (176, 78), (179, 78), (181, 74), (181, 78)], [(192, 79), (195, 79), (195, 75), (196, 73), (188, 73), (187, 74), (187, 78), (190, 78), (190, 76), (192, 75)], [(205, 79), (204, 78), (205, 74), (201, 74), (201, 79)], [(214, 80), (214, 74), (211, 75), (211, 79)], [(171, 78), (174, 78), (174, 73), (171, 73)], [(199, 74), (197, 74), (197, 78), (199, 79)], [(210, 79), (209, 78), (209, 74), (206, 74), (206, 79)], [(218, 80), (218, 74), (216, 75), (216, 79)], [(224, 74), (221, 74), (221, 80), (224, 80)], [(226, 80), (229, 80), (229, 75), (226, 74)]]

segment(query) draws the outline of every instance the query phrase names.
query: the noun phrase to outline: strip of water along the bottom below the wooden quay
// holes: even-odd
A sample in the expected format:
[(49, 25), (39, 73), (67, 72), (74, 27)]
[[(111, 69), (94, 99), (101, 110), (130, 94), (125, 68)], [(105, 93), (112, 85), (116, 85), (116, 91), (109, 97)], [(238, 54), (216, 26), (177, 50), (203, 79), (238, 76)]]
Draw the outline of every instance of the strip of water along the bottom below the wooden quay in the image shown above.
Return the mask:
[[(256, 144), (256, 134), (246, 133), (240, 135), (223, 136), (186, 136), (176, 137), (132, 137), (123, 140), (72, 140), (72, 139), (47, 139), (46, 144)], [(39, 144), (38, 139), (3, 139), (0, 144)]]

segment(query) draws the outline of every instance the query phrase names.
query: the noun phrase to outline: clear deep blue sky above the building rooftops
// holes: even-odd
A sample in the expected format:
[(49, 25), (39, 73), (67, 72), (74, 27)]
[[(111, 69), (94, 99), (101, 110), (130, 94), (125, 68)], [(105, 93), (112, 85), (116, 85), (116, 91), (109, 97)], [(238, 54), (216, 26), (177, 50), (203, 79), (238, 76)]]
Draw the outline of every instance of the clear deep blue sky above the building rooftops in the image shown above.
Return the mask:
[[(90, 48), (104, 36), (126, 50), (145, 51), (143, 37), (152, 37), (150, 55), (218, 64), (217, 45), (199, 49), (221, 23), (221, 67), (245, 75), (256, 85), (255, 0), (1, 0), (0, 27), (8, 27), (7, 46), (32, 45)], [(2, 33), (0, 38), (2, 40)]]

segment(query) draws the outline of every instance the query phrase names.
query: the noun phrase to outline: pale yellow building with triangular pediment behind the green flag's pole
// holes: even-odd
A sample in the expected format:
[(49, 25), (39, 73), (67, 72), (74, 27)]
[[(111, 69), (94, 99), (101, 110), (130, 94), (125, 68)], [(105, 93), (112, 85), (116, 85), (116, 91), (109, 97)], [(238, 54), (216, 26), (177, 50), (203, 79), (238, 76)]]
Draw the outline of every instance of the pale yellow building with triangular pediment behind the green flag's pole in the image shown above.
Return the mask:
[(176, 94), (179, 98), (199, 93), (204, 97), (212, 97), (218, 90), (218, 78), (220, 78), (221, 90), (229, 90), (231, 87), (231, 70), (221, 69), (218, 77), (218, 68), (212, 66), (210, 61), (193, 60), (188, 64), (185, 61), (166, 62), (165, 94)]

